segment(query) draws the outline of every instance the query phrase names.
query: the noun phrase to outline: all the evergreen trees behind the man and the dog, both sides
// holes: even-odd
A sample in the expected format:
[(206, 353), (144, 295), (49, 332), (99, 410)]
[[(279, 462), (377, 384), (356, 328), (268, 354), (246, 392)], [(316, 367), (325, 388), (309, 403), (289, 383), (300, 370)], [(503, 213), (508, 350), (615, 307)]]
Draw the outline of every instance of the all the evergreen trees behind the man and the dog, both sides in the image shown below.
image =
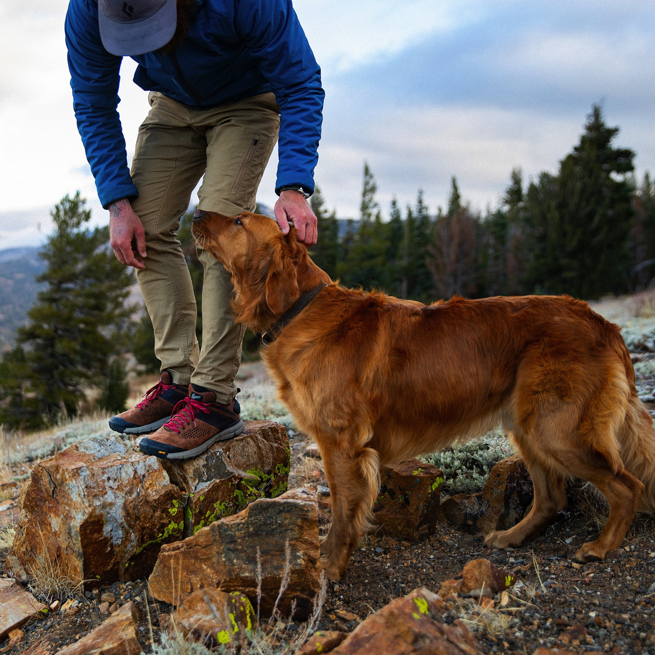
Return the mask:
[[(556, 174), (509, 176), (498, 206), (484, 214), (462, 198), (457, 179), (445, 208), (431, 212), (417, 191), (413, 206), (393, 200), (384, 212), (364, 163), (360, 214), (348, 221), (327, 210), (317, 188), (312, 259), (345, 286), (377, 289), (423, 303), (453, 295), (567, 293), (585, 300), (649, 288), (655, 280), (655, 185), (634, 174), (635, 152), (616, 145), (599, 105)], [(189, 212), (182, 244), (198, 308), (202, 265)], [(94, 405), (121, 411), (128, 396), (126, 362), (159, 371), (152, 324), (128, 304), (134, 284), (109, 249), (107, 227), (89, 229), (79, 193), (52, 210), (54, 233), (41, 252), (45, 283), (16, 345), (0, 362), (0, 423), (35, 428)], [(196, 326), (202, 343), (202, 315)], [(256, 356), (246, 333), (244, 356)], [(89, 390), (93, 390), (89, 394)]]

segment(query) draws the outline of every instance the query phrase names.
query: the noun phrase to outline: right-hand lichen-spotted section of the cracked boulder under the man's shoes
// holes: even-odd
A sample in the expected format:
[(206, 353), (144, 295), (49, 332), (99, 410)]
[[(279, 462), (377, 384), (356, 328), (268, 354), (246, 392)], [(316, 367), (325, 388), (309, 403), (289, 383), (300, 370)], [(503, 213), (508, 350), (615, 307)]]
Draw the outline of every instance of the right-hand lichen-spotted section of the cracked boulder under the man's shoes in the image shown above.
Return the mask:
[(287, 490), (289, 438), (272, 421), (246, 421), (244, 432), (194, 459), (162, 460), (171, 481), (189, 494), (183, 536), (240, 512), (257, 498)]

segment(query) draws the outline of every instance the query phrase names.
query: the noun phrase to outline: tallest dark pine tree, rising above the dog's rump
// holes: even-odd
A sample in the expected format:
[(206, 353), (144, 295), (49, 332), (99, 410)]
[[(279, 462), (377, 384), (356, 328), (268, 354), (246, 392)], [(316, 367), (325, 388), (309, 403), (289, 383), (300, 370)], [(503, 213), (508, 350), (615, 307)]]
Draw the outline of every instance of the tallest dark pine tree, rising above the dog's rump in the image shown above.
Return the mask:
[(534, 290), (584, 299), (627, 291), (635, 153), (612, 146), (618, 132), (593, 105), (557, 177), (542, 174), (530, 185), (526, 211), (536, 258), (527, 278)]

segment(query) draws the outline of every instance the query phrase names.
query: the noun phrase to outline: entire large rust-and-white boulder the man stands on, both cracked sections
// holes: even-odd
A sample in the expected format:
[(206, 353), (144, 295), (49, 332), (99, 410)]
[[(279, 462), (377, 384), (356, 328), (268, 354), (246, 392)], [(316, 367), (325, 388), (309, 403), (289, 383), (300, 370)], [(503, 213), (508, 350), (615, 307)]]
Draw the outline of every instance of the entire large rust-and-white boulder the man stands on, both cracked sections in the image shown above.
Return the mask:
[(162, 544), (286, 489), (284, 427), (246, 422), (244, 433), (193, 460), (134, 452), (93, 436), (37, 464), (20, 498), (7, 572), (27, 582), (55, 567), (73, 583), (147, 577)]

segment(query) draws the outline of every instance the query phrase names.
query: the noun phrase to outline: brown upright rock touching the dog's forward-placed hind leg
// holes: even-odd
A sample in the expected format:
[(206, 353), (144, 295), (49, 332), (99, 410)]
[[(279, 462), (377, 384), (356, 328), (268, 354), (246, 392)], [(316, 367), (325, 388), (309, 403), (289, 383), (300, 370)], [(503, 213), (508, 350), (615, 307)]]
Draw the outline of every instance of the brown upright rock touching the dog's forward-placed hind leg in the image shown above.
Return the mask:
[(523, 518), (533, 498), (533, 484), (520, 455), (498, 462), (489, 473), (482, 492), (485, 513), (477, 519), (483, 534), (505, 530)]

